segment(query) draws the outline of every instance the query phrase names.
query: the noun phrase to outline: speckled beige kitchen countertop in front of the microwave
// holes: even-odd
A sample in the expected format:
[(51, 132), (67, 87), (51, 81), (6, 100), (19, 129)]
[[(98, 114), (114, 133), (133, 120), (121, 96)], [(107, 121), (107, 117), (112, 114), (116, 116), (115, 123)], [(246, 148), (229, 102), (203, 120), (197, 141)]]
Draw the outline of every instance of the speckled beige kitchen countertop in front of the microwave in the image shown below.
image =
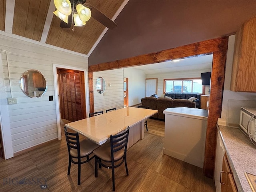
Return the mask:
[(238, 191), (252, 192), (244, 172), (256, 175), (256, 147), (239, 128), (218, 125)]

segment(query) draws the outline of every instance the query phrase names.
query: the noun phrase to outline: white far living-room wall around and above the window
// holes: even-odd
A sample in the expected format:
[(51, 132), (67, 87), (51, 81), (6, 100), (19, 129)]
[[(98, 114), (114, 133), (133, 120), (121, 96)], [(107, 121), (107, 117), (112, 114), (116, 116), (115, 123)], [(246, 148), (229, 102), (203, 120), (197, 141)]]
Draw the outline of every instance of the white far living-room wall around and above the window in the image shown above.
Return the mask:
[[(158, 74), (148, 74), (146, 78), (157, 78), (157, 95), (158, 97), (164, 97), (164, 79), (174, 79), (174, 78), (201, 78), (201, 73), (210, 72), (212, 69), (204, 70), (188, 70), (188, 71), (178, 71), (170, 73), (158, 73)], [(209, 86), (206, 86), (206, 93), (208, 94)]]

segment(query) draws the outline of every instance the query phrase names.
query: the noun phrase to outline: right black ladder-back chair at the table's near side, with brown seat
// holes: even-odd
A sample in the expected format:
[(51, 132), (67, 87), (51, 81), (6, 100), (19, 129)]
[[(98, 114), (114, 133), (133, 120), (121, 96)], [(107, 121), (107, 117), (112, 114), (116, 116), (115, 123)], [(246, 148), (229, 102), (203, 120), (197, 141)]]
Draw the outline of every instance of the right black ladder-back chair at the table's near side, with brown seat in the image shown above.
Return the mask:
[(128, 174), (126, 162), (126, 150), (128, 143), (130, 127), (123, 133), (117, 135), (110, 135), (110, 143), (103, 144), (100, 148), (94, 150), (95, 154), (95, 177), (98, 177), (98, 164), (101, 166), (112, 169), (112, 188), (115, 190), (115, 173), (114, 168), (125, 164), (126, 175)]

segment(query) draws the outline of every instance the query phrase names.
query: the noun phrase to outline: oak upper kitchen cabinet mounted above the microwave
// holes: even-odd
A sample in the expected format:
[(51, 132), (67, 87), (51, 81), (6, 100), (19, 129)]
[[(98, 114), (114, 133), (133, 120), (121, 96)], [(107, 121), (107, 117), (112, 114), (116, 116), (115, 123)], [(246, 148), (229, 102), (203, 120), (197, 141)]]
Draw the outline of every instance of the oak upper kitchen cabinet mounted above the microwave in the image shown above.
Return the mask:
[(236, 32), (230, 90), (256, 92), (256, 17)]

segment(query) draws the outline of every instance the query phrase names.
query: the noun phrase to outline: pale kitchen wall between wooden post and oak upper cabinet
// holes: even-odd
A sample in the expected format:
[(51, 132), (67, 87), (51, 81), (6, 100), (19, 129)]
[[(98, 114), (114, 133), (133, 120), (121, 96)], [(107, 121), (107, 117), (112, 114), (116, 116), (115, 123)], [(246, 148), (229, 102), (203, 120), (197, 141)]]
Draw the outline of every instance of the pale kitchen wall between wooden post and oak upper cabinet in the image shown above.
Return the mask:
[(227, 125), (239, 126), (241, 106), (256, 107), (256, 93), (230, 91), (234, 44), (235, 35), (229, 36), (221, 118)]

